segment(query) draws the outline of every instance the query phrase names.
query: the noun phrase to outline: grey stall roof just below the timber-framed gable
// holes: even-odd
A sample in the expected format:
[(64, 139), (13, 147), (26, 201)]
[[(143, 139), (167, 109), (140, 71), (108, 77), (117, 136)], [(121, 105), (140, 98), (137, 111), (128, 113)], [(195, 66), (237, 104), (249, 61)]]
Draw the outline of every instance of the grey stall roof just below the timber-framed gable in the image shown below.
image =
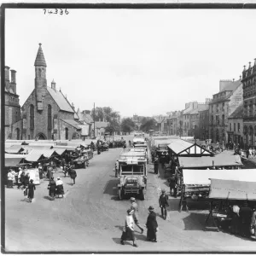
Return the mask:
[(179, 165), (183, 168), (202, 168), (214, 166), (242, 166), (239, 155), (179, 157)]

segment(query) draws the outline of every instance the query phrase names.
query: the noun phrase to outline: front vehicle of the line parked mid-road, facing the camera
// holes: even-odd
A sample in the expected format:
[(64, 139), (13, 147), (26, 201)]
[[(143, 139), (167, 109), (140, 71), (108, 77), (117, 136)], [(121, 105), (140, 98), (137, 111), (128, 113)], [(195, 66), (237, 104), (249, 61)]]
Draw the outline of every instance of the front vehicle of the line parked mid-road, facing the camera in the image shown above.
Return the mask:
[(119, 200), (125, 195), (146, 198), (147, 157), (145, 152), (123, 151), (119, 156)]

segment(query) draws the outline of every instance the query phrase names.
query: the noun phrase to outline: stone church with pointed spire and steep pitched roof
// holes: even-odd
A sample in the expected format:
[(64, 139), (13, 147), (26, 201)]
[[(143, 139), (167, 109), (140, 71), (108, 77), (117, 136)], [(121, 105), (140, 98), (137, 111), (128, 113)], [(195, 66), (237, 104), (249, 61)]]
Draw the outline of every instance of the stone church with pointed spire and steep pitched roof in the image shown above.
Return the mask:
[(55, 81), (47, 86), (46, 61), (41, 44), (35, 63), (35, 88), (22, 106), (23, 139), (80, 138), (79, 116)]

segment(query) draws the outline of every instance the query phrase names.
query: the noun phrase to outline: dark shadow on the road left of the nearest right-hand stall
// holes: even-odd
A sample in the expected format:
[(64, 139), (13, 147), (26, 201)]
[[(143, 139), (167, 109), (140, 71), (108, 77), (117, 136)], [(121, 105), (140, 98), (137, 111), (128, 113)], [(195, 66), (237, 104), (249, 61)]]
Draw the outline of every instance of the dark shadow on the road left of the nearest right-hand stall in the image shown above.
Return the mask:
[(183, 218), (184, 230), (204, 230), (206, 218), (206, 213), (190, 213), (188, 217)]

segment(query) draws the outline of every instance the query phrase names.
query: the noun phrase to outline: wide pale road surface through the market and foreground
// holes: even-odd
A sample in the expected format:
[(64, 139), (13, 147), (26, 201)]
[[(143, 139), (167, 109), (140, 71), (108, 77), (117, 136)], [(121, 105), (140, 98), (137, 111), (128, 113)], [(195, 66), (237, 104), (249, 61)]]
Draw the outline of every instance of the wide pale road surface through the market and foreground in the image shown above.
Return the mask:
[[(128, 138), (129, 139), (129, 138)], [(147, 199), (139, 201), (140, 220), (145, 224), (148, 206), (154, 205), (160, 226), (159, 242), (145, 241), (137, 229), (138, 247), (127, 241), (119, 244), (128, 199), (119, 201), (113, 164), (121, 148), (95, 155), (87, 169), (78, 169), (74, 186), (63, 177), (66, 196), (49, 201), (45, 180), (35, 191), (35, 200), (26, 202), (22, 191), (6, 189), (6, 248), (9, 251), (68, 252), (165, 252), (165, 251), (253, 251), (256, 244), (222, 232), (204, 232), (207, 211), (177, 212), (178, 199), (170, 200), (167, 220), (160, 218), (158, 196), (166, 188), (166, 177), (159, 177), (149, 165)], [(55, 174), (63, 176), (61, 172)]]

